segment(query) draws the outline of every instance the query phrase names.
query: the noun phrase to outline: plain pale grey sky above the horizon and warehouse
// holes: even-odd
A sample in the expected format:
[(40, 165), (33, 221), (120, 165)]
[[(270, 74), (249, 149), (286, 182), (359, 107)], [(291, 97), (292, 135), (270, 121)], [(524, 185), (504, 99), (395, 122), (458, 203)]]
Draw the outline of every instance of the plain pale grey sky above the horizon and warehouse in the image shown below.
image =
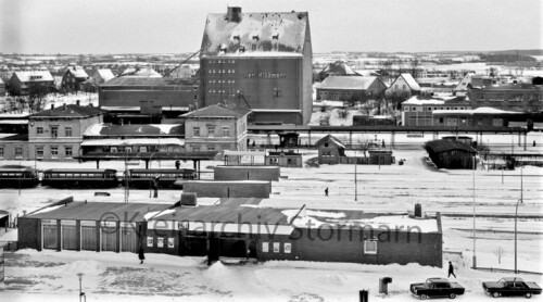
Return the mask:
[(543, 49), (542, 0), (0, 0), (0, 52), (195, 52), (227, 5), (308, 12), (316, 53)]

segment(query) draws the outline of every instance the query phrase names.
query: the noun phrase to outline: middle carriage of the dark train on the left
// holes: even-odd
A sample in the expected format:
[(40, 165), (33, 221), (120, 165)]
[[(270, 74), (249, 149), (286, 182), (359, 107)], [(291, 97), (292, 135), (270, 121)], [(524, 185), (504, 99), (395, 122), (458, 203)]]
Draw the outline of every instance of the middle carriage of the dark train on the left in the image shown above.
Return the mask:
[(116, 173), (112, 168), (50, 168), (43, 172), (41, 185), (56, 188), (112, 188), (118, 186)]

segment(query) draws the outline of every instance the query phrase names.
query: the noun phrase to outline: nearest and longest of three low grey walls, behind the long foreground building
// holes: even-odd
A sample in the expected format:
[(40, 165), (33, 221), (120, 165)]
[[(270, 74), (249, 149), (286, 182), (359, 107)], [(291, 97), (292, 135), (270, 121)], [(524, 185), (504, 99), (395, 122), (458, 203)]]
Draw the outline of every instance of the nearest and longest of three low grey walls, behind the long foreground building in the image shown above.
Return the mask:
[(214, 198), (269, 198), (270, 181), (184, 181), (184, 192), (197, 193), (201, 197)]

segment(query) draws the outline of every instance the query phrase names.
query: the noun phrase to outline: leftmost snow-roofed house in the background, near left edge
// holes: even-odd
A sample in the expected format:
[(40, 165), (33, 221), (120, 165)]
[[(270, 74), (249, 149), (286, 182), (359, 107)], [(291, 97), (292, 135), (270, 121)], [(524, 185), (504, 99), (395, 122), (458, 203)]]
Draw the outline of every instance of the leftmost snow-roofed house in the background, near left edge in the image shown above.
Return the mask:
[(14, 96), (27, 96), (34, 89), (51, 91), (54, 79), (50, 72), (14, 72), (10, 78), (10, 92)]

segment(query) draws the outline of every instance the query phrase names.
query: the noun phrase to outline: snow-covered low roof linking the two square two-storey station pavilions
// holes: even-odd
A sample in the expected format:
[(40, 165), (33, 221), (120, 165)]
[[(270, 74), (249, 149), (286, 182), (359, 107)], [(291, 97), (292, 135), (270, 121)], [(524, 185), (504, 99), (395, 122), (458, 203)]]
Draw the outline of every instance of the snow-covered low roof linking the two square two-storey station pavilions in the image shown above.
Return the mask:
[(149, 135), (174, 135), (185, 134), (182, 124), (150, 124), (150, 125), (110, 125), (94, 124), (90, 126), (84, 136), (149, 136)]

